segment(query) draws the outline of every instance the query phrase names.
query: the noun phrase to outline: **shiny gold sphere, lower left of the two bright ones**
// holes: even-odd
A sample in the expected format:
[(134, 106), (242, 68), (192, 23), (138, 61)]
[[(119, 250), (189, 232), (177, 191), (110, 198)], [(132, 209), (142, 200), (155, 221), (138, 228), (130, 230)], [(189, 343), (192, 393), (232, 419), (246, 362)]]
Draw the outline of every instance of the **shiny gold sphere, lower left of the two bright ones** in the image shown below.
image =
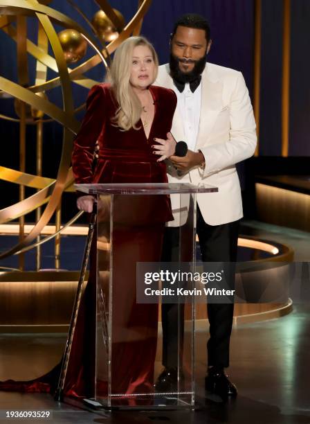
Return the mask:
[(61, 31), (58, 37), (67, 63), (78, 62), (84, 57), (87, 50), (87, 42), (78, 31), (66, 29)]

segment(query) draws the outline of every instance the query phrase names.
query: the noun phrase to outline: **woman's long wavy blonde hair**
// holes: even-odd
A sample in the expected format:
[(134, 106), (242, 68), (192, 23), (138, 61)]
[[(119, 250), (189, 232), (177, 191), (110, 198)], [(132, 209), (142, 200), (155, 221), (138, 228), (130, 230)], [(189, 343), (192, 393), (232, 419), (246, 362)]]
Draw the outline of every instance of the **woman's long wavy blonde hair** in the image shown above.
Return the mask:
[(140, 119), (142, 111), (140, 100), (129, 82), (131, 59), (136, 46), (147, 46), (152, 52), (155, 72), (151, 84), (156, 80), (158, 73), (158, 57), (156, 51), (145, 37), (129, 37), (116, 49), (108, 80), (111, 82), (111, 87), (118, 101), (118, 109), (113, 118), (113, 122), (123, 131), (130, 130), (131, 128), (139, 130), (136, 123)]

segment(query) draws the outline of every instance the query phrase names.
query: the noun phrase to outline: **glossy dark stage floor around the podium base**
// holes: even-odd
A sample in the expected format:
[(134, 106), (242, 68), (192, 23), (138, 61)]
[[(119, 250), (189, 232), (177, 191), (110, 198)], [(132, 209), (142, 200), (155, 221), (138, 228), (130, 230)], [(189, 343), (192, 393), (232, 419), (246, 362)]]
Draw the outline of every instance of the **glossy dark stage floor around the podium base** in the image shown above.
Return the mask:
[[(281, 319), (233, 329), (230, 378), (239, 389), (233, 403), (205, 398), (207, 332), (197, 334), (197, 408), (195, 411), (113, 412), (100, 414), (57, 405), (48, 394), (0, 392), (0, 410), (46, 409), (52, 423), (310, 423), (310, 306), (295, 306)], [(59, 359), (64, 343), (57, 335), (1, 335), (0, 378), (39, 375)], [(45, 353), (44, 353), (45, 352)], [(44, 357), (42, 357), (44, 353)], [(11, 420), (1, 420), (1, 423)], [(19, 420), (18, 422), (26, 422)], [(28, 421), (29, 422), (29, 421)], [(34, 422), (34, 421), (33, 421)], [(38, 421), (44, 422), (44, 421)]]

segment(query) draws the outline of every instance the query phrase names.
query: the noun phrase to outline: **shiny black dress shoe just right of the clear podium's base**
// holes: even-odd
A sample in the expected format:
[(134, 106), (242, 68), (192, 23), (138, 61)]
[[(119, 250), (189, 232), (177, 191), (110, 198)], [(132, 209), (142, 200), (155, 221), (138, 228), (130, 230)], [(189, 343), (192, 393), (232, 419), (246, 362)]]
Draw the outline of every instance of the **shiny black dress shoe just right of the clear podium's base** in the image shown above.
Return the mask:
[(220, 396), (222, 400), (235, 398), (238, 394), (237, 387), (228, 380), (228, 376), (224, 373), (224, 369), (215, 368), (213, 366), (208, 370), (205, 388), (206, 391)]

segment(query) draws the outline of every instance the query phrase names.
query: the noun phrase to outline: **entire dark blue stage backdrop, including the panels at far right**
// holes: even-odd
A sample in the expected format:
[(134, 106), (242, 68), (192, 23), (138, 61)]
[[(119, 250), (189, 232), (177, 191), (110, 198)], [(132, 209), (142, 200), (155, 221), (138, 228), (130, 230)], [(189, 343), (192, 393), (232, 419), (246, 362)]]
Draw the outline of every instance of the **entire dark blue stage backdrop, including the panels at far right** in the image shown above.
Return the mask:
[[(98, 6), (95, 1), (76, 0), (91, 18)], [(136, 10), (136, 0), (110, 0), (111, 5), (120, 10), (126, 21), (131, 19)], [(65, 0), (50, 3), (66, 15), (73, 17), (80, 24), (83, 19)], [(185, 12), (198, 12), (206, 16), (212, 28), (213, 45), (208, 55), (210, 62), (226, 67), (233, 67), (244, 73), (246, 83), (252, 95), (253, 89), (253, 27), (254, 0), (154, 0), (143, 23), (142, 33), (156, 47), (160, 62), (169, 58), (169, 35), (173, 22)], [(281, 83), (282, 83), (282, 0), (262, 0), (262, 71), (261, 71), (261, 107), (259, 154), (281, 154)], [(291, 1), (291, 108), (290, 108), (290, 143), (289, 154), (292, 156), (309, 156), (309, 114), (310, 85), (308, 82), (307, 46), (310, 41), (309, 22), (310, 1)], [(28, 37), (35, 41), (33, 19), (28, 18)], [(62, 28), (59, 28), (61, 30)], [(87, 56), (93, 52), (88, 48)], [(10, 37), (0, 31), (0, 75), (17, 80), (16, 44)], [(29, 56), (30, 83), (34, 78), (34, 60)], [(32, 73), (31, 73), (32, 71)], [(49, 71), (48, 76), (53, 76)], [(97, 80), (104, 79), (101, 66), (93, 69), (90, 76)], [(86, 98), (86, 89), (74, 87), (76, 105)], [(48, 92), (51, 100), (61, 104), (60, 89)], [(15, 116), (12, 99), (0, 99), (0, 113)], [(79, 116), (82, 117), (82, 114)], [(0, 120), (3, 134), (1, 165), (18, 168), (18, 127), (16, 123)], [(35, 172), (33, 152), (35, 150), (34, 128), (28, 128), (27, 171)], [(44, 126), (44, 175), (53, 177), (57, 169), (61, 128), (57, 124)], [(33, 141), (32, 141), (33, 140)], [(10, 141), (10, 142), (8, 142)], [(51, 160), (52, 159), (52, 160)]]

